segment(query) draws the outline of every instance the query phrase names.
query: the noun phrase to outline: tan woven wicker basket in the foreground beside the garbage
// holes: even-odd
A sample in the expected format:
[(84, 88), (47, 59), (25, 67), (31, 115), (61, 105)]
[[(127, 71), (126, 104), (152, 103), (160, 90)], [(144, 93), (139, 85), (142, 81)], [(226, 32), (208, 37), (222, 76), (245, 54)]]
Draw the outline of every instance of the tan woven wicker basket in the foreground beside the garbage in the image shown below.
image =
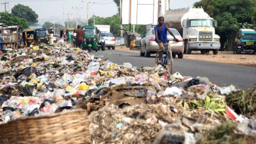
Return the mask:
[(0, 143), (91, 143), (87, 112), (76, 109), (1, 124)]

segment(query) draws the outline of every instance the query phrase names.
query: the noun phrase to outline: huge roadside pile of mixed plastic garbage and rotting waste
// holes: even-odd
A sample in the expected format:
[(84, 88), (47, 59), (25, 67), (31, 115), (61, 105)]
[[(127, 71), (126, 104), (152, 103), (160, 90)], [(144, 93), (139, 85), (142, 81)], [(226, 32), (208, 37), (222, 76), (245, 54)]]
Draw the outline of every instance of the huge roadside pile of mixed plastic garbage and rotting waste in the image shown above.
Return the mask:
[(83, 108), (95, 143), (196, 143), (226, 122), (238, 138), (256, 135), (255, 89), (237, 114), (234, 98), (226, 103), (240, 97), (234, 86), (170, 75), (161, 65), (112, 63), (66, 43), (3, 54), (0, 79), (0, 124)]

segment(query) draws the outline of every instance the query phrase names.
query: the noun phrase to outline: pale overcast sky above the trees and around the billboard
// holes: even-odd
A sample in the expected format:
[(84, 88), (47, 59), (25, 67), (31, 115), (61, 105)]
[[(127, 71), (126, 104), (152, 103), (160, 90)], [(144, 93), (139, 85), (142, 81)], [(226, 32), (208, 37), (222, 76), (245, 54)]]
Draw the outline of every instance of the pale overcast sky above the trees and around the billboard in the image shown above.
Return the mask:
[[(113, 0), (0, 0), (1, 3), (9, 2), (7, 10), (11, 12), (12, 7), (18, 3), (28, 5), (39, 15), (39, 23), (45, 20), (63, 22), (70, 19), (86, 20), (87, 3), (93, 2), (89, 7), (89, 16), (112, 16), (117, 13), (116, 3)], [(191, 7), (198, 0), (171, 0), (170, 9)], [(0, 11), (5, 10), (5, 5), (1, 5)]]

